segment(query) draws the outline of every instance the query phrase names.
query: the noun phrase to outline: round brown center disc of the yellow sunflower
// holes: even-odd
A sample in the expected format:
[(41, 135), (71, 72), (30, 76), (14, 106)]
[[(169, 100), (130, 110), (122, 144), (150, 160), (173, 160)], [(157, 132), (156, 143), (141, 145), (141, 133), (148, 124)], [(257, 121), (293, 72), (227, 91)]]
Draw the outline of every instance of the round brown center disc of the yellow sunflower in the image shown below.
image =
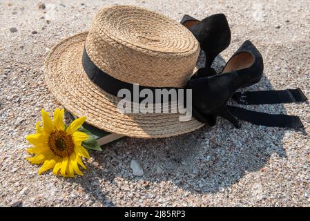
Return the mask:
[(54, 131), (48, 137), (48, 146), (59, 157), (68, 157), (75, 150), (71, 135), (64, 131)]

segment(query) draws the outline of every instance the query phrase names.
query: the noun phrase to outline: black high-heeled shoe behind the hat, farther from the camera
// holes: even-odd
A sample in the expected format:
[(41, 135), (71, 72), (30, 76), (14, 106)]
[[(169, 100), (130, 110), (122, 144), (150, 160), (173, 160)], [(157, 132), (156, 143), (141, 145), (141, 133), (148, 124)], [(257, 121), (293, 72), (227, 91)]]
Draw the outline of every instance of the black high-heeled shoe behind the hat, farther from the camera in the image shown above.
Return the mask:
[(200, 42), (206, 54), (205, 68), (210, 68), (215, 57), (231, 43), (231, 30), (224, 14), (215, 14), (199, 21), (184, 15), (181, 21)]

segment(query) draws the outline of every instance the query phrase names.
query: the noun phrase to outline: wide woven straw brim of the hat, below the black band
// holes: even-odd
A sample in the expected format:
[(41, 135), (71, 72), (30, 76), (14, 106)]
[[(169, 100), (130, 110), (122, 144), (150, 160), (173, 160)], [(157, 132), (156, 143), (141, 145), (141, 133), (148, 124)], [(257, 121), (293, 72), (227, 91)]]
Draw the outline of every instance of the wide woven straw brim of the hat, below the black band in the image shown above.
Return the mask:
[(181, 122), (179, 114), (119, 113), (119, 98), (106, 93), (86, 75), (81, 64), (88, 32), (64, 39), (50, 51), (44, 75), (50, 92), (71, 113), (111, 133), (129, 137), (171, 137), (195, 131), (204, 124), (195, 118)]

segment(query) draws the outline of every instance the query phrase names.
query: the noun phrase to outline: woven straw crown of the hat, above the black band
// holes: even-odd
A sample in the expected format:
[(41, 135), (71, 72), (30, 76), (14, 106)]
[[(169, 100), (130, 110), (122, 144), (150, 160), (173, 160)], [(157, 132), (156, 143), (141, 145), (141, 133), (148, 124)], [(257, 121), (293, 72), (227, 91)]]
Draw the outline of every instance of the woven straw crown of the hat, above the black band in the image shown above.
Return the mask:
[(96, 66), (121, 81), (183, 88), (200, 48), (191, 32), (164, 15), (113, 6), (95, 15), (86, 51)]

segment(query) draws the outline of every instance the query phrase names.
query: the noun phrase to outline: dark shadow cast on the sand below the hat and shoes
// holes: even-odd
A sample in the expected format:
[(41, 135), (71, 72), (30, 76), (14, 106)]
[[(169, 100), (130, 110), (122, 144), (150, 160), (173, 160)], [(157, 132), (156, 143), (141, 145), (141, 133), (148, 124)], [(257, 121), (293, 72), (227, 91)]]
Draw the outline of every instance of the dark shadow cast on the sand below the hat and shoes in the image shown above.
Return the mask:
[[(201, 59), (201, 58), (200, 58)], [(216, 69), (224, 60), (217, 57)], [(220, 65), (219, 65), (220, 64)], [(267, 77), (259, 84), (243, 90), (271, 90)], [(268, 112), (268, 106), (244, 106), (250, 110)], [(282, 104), (276, 104), (277, 113), (285, 114)], [(236, 129), (224, 119), (217, 119), (217, 125), (204, 126), (199, 130), (164, 139), (134, 139), (126, 137), (108, 144), (101, 153), (91, 151), (94, 163), (88, 164), (84, 177), (71, 180), (84, 185), (84, 189), (96, 200), (114, 206), (94, 180), (112, 182), (122, 177), (128, 182), (171, 181), (186, 191), (195, 193), (216, 193), (230, 188), (245, 173), (260, 171), (271, 155), (287, 157), (282, 147), (282, 138), (287, 129), (255, 126), (242, 122)], [(137, 160), (144, 169), (144, 175), (132, 175), (130, 161)], [(119, 187), (120, 188), (120, 187)]]

